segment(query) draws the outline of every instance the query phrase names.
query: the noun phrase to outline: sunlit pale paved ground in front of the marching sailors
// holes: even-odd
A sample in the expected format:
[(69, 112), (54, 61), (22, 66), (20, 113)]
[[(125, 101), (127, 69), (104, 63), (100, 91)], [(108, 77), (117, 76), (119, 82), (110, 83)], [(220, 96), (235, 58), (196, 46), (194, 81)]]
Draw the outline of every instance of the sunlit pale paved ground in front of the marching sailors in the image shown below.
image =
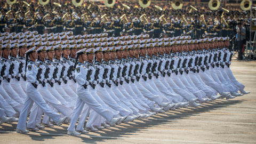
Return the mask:
[(143, 121), (120, 124), (81, 137), (66, 134), (67, 124), (19, 134), (17, 123), (0, 125), (0, 143), (256, 143), (256, 62), (232, 61), (237, 80), (250, 94), (182, 108)]

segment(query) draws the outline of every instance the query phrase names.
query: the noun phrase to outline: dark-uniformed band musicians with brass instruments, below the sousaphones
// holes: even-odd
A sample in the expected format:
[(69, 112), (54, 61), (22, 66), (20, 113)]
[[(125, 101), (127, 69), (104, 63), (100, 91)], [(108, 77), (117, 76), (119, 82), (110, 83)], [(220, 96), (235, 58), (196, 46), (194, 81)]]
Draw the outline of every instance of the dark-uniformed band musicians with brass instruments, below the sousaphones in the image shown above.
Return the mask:
[(92, 13), (82, 7), (63, 10), (58, 6), (54, 10), (44, 11), (43, 6), (38, 6), (36, 10), (28, 11), (26, 7), (21, 7), (18, 15), (14, 8), (3, 8), (0, 31), (25, 33), (37, 30), (38, 34), (73, 31), (75, 35), (108, 33), (109, 37), (148, 34), (150, 38), (183, 35), (198, 39), (235, 35), (237, 21), (250, 23), (250, 11), (237, 10), (222, 13), (204, 10), (149, 13), (138, 9), (134, 13), (122, 10)]

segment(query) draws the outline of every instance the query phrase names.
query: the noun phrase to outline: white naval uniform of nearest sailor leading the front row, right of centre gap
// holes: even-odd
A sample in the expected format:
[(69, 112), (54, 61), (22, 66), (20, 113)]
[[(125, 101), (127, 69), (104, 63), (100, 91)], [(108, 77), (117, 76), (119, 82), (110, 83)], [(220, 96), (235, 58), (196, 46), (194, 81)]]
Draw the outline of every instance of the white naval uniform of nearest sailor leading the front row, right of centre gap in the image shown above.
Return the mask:
[[(93, 109), (94, 111), (97, 111), (97, 113), (100, 114), (102, 117), (106, 118), (107, 121), (110, 121), (110, 119), (113, 118), (115, 115), (115, 113), (113, 113), (113, 111), (106, 109), (105, 106), (101, 105), (94, 98), (94, 96), (91, 94), (91, 92), (88, 89), (88, 87), (90, 87), (89, 85), (87, 85), (87, 89), (84, 88), (83, 85), (86, 83), (87, 71), (88, 71), (88, 69), (86, 68), (84, 63), (79, 62), (76, 67), (76, 70), (75, 70), (75, 79), (78, 84), (76, 93), (77, 93), (78, 97), (77, 97), (77, 101), (76, 101), (76, 107), (71, 116), (71, 122), (68, 127), (68, 131), (75, 131), (76, 122), (77, 122), (78, 117), (81, 114), (81, 111), (83, 110), (83, 107), (85, 104), (87, 106), (89, 106), (88, 108), (86, 108), (87, 111), (88, 111), (88, 109)], [(92, 87), (91, 87), (91, 89), (92, 89)], [(81, 115), (81, 118), (85, 117), (85, 119), (86, 119), (87, 115)], [(79, 122), (80, 121), (81, 121), (81, 119), (79, 120)], [(83, 121), (83, 123), (84, 122), (85, 121)], [(78, 127), (80, 127), (80, 129), (78, 129)], [(81, 122), (81, 126), (77, 125), (77, 130), (83, 130), (82, 122)]]

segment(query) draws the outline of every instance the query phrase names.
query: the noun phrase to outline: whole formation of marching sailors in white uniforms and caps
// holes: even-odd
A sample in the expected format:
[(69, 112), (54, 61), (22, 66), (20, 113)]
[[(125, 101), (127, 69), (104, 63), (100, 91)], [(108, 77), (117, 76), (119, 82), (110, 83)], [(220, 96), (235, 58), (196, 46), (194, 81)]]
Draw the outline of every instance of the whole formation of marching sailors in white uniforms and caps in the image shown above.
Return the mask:
[(230, 70), (229, 37), (15, 36), (0, 41), (0, 121), (18, 121), (21, 133), (65, 122), (81, 135), (250, 93)]

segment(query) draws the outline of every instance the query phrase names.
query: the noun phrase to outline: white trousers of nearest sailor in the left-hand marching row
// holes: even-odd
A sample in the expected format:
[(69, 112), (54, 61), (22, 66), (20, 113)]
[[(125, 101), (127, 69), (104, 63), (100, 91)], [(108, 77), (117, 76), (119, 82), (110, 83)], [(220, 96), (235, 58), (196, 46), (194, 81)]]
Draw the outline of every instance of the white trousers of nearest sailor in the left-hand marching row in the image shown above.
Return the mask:
[(28, 97), (25, 100), (25, 104), (21, 110), (19, 122), (17, 125), (17, 129), (25, 130), (26, 129), (26, 122), (27, 122), (27, 116), (32, 108), (34, 102), (37, 106), (39, 106), (43, 111), (44, 114), (48, 115), (50, 118), (53, 119), (54, 122), (57, 122), (61, 115), (54, 112), (44, 101), (42, 95), (38, 92), (38, 90), (31, 84), (28, 83), (26, 87), (26, 92), (28, 94)]

